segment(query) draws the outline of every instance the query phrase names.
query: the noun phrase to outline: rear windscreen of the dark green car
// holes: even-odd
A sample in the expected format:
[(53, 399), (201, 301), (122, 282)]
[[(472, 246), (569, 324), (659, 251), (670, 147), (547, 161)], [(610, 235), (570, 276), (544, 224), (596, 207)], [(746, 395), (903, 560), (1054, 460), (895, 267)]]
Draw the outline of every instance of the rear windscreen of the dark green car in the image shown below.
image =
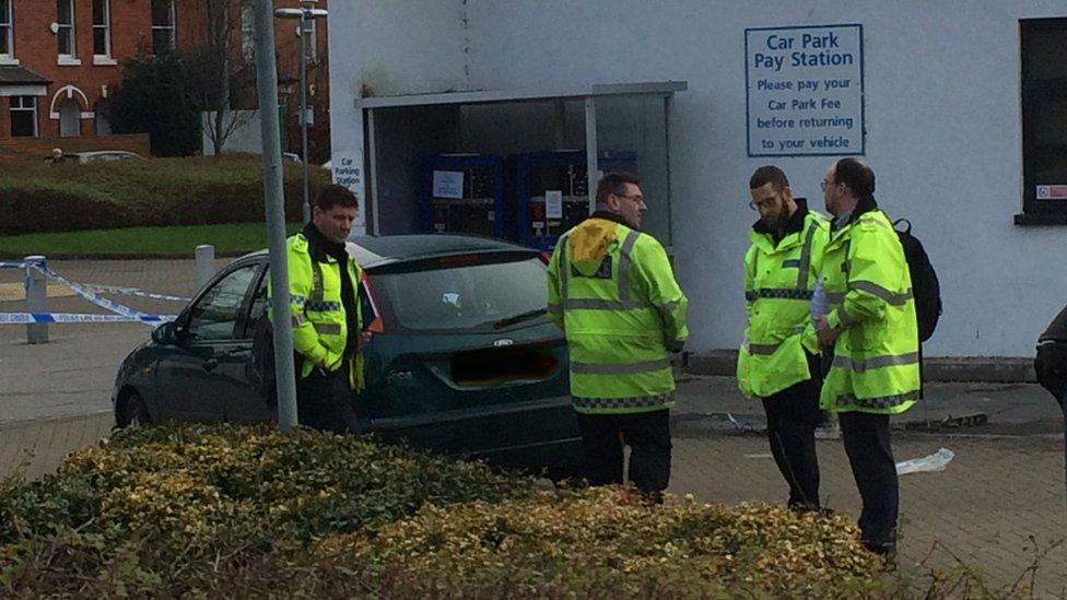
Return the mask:
[(544, 263), (529, 255), (485, 260), (464, 255), (420, 262), (417, 270), (374, 273), (375, 297), (394, 321), (386, 329), (492, 331), (540, 320), (548, 304)]

